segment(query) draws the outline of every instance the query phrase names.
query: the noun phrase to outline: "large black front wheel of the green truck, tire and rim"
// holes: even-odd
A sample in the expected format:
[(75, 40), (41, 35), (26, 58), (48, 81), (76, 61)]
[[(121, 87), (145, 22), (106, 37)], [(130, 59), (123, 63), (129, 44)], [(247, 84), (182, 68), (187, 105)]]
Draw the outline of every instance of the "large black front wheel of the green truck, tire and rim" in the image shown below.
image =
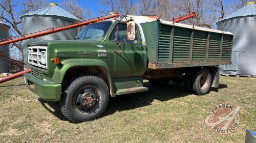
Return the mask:
[(76, 78), (63, 93), (61, 112), (69, 121), (78, 123), (98, 118), (109, 102), (109, 89), (98, 76)]

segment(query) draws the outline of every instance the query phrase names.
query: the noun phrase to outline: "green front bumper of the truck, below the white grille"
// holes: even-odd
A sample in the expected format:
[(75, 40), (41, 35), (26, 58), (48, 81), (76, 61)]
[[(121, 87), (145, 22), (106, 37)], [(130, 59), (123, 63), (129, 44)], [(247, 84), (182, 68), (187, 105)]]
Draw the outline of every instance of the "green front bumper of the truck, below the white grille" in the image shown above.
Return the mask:
[(24, 81), (30, 91), (46, 101), (60, 101), (61, 84), (44, 81), (31, 73), (24, 74)]

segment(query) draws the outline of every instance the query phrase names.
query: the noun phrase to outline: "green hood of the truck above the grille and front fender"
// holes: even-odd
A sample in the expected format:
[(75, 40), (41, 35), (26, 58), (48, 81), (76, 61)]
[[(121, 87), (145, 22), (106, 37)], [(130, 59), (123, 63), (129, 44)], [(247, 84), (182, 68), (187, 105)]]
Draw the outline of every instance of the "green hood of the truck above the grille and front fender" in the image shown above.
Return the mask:
[(47, 46), (48, 54), (54, 56), (77, 56), (95, 54), (94, 43), (96, 41), (75, 41), (75, 40), (51, 40), (30, 43), (28, 46)]

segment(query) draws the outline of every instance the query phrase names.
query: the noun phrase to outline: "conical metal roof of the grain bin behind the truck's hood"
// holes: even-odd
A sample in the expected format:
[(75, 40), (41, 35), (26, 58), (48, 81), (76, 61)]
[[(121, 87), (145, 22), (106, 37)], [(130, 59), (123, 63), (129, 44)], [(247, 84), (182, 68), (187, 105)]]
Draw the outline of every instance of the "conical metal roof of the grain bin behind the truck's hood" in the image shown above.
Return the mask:
[(51, 15), (51, 16), (60, 16), (60, 17), (66, 17), (66, 18), (71, 18), (71, 19), (81, 21), (79, 18), (61, 9), (56, 4), (55, 5), (51, 4), (49, 7), (26, 13), (20, 17), (27, 16), (27, 15)]

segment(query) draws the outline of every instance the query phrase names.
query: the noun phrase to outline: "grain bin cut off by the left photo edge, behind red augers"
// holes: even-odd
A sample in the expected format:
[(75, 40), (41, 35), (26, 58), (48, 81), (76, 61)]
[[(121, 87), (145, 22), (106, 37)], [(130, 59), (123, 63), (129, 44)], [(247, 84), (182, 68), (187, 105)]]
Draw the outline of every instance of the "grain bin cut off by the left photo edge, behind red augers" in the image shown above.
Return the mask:
[[(0, 41), (7, 41), (9, 38), (9, 28), (7, 24), (0, 21)], [(4, 40), (6, 39), (6, 40)], [(2, 41), (3, 40), (3, 41)], [(0, 46), (0, 52), (4, 52), (6, 56), (10, 56), (9, 44)], [(10, 64), (7, 61), (3, 60), (4, 58), (0, 58), (0, 73), (9, 73), (10, 72)]]

